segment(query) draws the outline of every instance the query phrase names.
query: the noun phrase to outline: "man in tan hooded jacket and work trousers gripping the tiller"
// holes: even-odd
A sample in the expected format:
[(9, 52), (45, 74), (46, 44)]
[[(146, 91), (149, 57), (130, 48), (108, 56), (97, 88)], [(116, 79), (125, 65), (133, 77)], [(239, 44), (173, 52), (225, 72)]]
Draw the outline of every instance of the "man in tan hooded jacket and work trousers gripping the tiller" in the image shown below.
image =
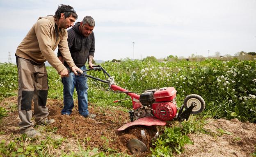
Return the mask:
[(73, 62), (67, 43), (67, 28), (73, 26), (78, 18), (73, 7), (59, 5), (55, 15), (39, 18), (27, 33), (16, 50), (18, 67), (18, 115), (20, 133), (29, 137), (40, 136), (34, 130), (31, 111), (34, 102), (34, 116), (36, 124), (48, 125), (55, 122), (48, 119), (46, 100), (48, 94), (47, 71), (44, 62), (48, 62), (57, 70), (61, 77), (69, 77), (69, 71), (60, 62), (54, 50), (59, 47), (62, 56), (71, 70), (83, 72)]

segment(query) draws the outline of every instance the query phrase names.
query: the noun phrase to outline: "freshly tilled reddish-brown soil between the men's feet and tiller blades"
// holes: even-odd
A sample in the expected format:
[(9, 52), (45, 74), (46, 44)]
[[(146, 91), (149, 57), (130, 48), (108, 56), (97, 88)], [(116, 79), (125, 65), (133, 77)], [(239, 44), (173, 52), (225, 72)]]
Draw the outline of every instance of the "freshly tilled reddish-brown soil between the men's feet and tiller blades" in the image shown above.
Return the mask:
[[(90, 105), (90, 113), (96, 114), (96, 119), (82, 117), (77, 109), (71, 115), (60, 115), (62, 103), (57, 100), (48, 101), (49, 118), (56, 120), (52, 127), (57, 127), (57, 134), (63, 137), (76, 137), (87, 141), (87, 146), (97, 147), (102, 150), (111, 148), (119, 152), (128, 151), (127, 143), (130, 139), (142, 140), (141, 130), (145, 130), (144, 144), (151, 146), (154, 135), (150, 127), (133, 126), (124, 131), (117, 131), (119, 127), (130, 122), (128, 113), (117, 110), (118, 108), (104, 109)], [(154, 128), (154, 127), (152, 127)], [(128, 151), (129, 152), (129, 151)]]

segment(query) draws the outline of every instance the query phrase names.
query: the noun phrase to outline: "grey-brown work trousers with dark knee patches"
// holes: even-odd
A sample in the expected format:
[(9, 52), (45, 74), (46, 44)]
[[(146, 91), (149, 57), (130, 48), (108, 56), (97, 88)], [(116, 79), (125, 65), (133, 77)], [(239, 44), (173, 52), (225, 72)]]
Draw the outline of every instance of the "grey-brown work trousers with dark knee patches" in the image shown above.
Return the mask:
[(46, 107), (48, 80), (45, 64), (37, 65), (30, 60), (16, 57), (18, 66), (18, 115), (20, 131), (32, 129), (32, 100), (34, 102), (35, 122), (47, 119)]

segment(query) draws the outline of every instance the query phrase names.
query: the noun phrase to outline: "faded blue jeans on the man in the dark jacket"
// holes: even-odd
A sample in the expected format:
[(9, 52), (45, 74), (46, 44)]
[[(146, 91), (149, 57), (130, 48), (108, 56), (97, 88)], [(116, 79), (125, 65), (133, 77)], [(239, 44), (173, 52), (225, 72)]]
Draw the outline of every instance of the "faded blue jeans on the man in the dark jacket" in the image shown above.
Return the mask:
[[(86, 66), (80, 67), (81, 70), (85, 70)], [(86, 73), (86, 72), (84, 72)], [(72, 113), (72, 108), (74, 107), (73, 93), (74, 89), (78, 94), (78, 111), (79, 114), (86, 117), (89, 115), (88, 111), (88, 98), (87, 98), (87, 77), (83, 75), (75, 75), (74, 73), (69, 73), (69, 77), (63, 77), (63, 99), (64, 108), (62, 109), (62, 115)]]

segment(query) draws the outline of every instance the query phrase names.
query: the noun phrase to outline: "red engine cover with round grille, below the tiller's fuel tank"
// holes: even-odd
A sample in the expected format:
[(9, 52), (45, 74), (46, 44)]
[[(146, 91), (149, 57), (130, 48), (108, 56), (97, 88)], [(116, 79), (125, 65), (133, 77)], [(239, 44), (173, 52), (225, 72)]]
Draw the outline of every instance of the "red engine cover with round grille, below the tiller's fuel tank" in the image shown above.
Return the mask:
[(177, 106), (172, 102), (155, 102), (152, 104), (153, 115), (163, 121), (173, 119), (177, 113)]

